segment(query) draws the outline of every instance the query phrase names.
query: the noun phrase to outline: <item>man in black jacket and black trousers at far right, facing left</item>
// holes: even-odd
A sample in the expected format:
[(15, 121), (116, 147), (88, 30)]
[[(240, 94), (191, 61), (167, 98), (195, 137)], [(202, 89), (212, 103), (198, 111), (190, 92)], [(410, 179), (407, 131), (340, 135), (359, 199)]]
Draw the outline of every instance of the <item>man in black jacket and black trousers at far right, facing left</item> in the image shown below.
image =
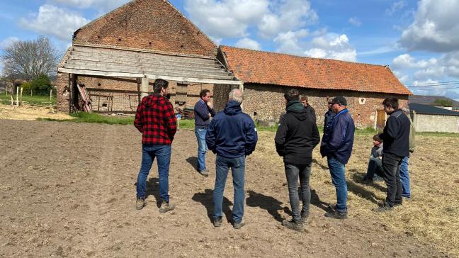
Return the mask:
[(409, 155), (409, 119), (398, 108), (398, 99), (390, 97), (382, 101), (387, 115), (386, 125), (380, 138), (384, 140), (382, 147), (382, 169), (384, 169), (387, 185), (387, 198), (384, 205), (375, 211), (389, 211), (396, 205), (402, 205), (402, 182), (400, 181), (400, 165), (402, 159)]

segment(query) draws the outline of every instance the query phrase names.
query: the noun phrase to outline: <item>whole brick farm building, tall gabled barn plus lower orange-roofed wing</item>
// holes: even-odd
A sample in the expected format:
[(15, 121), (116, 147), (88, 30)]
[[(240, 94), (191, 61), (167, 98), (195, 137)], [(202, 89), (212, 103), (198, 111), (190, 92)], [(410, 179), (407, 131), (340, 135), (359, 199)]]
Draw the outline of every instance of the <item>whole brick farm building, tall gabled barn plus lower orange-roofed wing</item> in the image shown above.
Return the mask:
[[(276, 123), (283, 93), (295, 87), (323, 123), (326, 97), (345, 96), (359, 128), (382, 127), (381, 102), (411, 92), (387, 66), (217, 47), (164, 0), (134, 0), (74, 32), (57, 73), (57, 110), (83, 109), (86, 89), (92, 110), (134, 113), (154, 79), (169, 81), (172, 103), (194, 105), (210, 89), (221, 110), (233, 87), (244, 89), (244, 111), (261, 124)], [(84, 99), (84, 98), (83, 98)]]

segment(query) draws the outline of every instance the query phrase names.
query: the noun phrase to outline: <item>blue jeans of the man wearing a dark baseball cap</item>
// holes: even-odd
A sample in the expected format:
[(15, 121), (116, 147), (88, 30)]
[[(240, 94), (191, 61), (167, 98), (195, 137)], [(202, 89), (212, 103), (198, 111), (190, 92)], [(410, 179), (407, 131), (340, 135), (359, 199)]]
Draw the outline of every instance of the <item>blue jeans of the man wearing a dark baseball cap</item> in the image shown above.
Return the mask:
[(336, 189), (336, 211), (347, 212), (347, 184), (344, 164), (341, 164), (334, 157), (327, 157), (328, 166), (331, 174), (331, 182)]

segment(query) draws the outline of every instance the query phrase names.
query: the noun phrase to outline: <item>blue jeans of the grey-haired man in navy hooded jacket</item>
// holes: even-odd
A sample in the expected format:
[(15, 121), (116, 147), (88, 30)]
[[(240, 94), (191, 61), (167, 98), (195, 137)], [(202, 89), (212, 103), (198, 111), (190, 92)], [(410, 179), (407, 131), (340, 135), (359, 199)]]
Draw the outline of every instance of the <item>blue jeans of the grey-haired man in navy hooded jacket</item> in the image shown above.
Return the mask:
[(226, 158), (217, 155), (215, 159), (215, 189), (213, 192), (213, 218), (222, 218), (223, 191), (225, 191), (226, 179), (231, 168), (234, 187), (234, 206), (232, 210), (234, 223), (240, 223), (244, 216), (244, 174), (245, 156)]

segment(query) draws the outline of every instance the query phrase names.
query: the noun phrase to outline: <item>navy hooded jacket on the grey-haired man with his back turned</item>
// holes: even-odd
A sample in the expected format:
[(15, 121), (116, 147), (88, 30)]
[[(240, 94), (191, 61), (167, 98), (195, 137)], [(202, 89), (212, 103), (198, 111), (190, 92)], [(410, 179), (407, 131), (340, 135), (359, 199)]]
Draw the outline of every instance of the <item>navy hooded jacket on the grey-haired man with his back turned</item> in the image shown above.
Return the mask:
[(212, 119), (205, 135), (209, 150), (229, 159), (251, 155), (257, 141), (254, 120), (242, 113), (237, 101), (228, 101), (225, 110)]

